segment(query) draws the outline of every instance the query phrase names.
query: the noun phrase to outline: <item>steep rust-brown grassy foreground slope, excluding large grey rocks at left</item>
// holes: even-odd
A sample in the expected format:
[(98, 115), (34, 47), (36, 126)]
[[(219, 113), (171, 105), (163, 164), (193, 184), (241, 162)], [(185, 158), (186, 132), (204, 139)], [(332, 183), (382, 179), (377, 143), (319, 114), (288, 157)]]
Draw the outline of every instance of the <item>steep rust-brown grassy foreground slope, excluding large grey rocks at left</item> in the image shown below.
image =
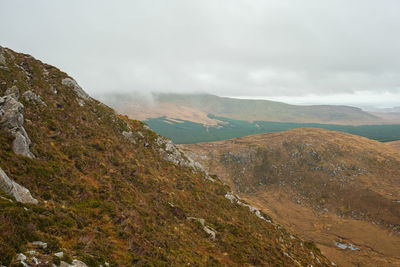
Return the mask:
[(0, 168), (38, 200), (0, 193), (0, 264), (38, 240), (50, 255), (41, 266), (59, 264), (51, 255), (60, 250), (89, 266), (329, 264), (312, 243), (228, 200), (227, 186), (143, 123), (82, 97), (67, 74), (0, 53), (0, 96), (16, 86), (44, 102), (19, 100), (34, 158), (15, 154), (14, 137), (0, 131)]

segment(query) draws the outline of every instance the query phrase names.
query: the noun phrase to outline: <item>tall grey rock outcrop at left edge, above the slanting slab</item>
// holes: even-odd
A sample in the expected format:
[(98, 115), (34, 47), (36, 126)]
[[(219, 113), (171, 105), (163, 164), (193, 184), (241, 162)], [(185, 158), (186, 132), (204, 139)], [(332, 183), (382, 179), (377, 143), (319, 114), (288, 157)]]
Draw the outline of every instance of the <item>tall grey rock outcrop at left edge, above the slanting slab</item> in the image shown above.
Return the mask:
[(6, 129), (15, 137), (13, 141), (15, 154), (34, 158), (35, 156), (29, 150), (31, 140), (23, 127), (24, 105), (18, 99), (19, 89), (16, 86), (8, 88), (6, 95), (0, 97), (0, 128)]

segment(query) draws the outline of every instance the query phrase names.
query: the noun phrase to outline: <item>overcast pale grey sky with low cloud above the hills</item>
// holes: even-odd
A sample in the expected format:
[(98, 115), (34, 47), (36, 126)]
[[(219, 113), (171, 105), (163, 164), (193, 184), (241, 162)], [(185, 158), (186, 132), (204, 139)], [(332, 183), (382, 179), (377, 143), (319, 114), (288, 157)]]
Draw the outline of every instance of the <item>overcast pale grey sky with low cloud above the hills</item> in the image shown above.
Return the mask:
[(398, 0), (0, 0), (0, 45), (95, 96), (366, 95), (391, 106), (400, 105), (399, 12)]

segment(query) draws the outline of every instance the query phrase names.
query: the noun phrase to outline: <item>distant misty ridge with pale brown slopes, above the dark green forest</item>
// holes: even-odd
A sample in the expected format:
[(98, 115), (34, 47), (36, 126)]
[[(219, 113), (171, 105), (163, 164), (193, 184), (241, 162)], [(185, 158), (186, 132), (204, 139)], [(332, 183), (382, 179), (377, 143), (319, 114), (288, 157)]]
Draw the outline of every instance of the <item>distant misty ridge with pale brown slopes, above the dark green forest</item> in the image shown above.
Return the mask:
[[(204, 125), (216, 125), (208, 114), (235, 120), (326, 123), (343, 125), (382, 124), (385, 120), (356, 107), (296, 106), (269, 100), (246, 100), (209, 94), (155, 94), (154, 102), (129, 96), (104, 96), (107, 104), (128, 116), (146, 120), (166, 116)], [(185, 112), (182, 112), (185, 110)], [(391, 121), (390, 123), (393, 123)]]

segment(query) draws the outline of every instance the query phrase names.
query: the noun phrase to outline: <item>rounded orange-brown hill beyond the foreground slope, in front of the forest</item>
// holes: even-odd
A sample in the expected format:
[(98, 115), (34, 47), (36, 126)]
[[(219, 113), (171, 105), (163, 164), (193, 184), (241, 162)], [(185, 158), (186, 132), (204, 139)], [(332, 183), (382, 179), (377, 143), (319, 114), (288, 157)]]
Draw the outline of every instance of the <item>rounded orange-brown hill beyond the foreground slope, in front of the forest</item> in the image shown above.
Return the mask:
[(388, 145), (304, 128), (181, 147), (335, 262), (400, 265), (400, 153)]

